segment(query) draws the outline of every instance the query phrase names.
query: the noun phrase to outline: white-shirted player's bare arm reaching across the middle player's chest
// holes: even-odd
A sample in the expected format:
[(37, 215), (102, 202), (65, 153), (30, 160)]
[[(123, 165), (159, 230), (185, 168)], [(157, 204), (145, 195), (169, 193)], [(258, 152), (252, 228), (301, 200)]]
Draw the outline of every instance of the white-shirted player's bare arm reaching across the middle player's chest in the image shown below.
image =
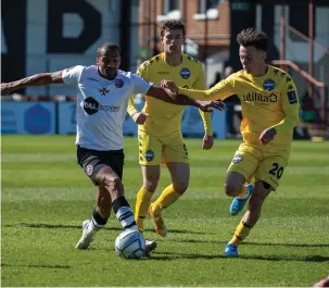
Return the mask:
[(175, 92), (170, 89), (162, 88), (156, 85), (153, 85), (149, 91), (148, 96), (154, 97), (156, 99), (163, 100), (167, 103), (176, 104), (176, 105), (188, 105), (188, 107), (197, 107), (202, 111), (211, 112), (211, 108), (217, 110), (224, 110), (225, 105), (220, 101), (197, 101), (190, 97), (185, 95), (180, 95), (176, 97)]

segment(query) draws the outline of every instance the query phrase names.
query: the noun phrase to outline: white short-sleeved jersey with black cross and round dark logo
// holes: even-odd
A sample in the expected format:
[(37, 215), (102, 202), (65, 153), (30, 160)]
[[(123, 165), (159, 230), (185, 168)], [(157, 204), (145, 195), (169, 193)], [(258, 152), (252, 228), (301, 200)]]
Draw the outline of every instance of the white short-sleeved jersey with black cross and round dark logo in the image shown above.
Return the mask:
[(152, 84), (121, 70), (109, 80), (99, 74), (96, 65), (64, 70), (62, 78), (77, 88), (75, 143), (99, 151), (123, 149), (123, 123), (129, 97), (147, 93)]

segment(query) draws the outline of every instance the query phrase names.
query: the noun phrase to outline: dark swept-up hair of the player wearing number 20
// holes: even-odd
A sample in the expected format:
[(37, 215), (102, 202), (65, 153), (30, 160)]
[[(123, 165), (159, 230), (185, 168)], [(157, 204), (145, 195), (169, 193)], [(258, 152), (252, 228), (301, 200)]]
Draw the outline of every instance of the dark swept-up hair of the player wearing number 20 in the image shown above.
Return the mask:
[(253, 46), (258, 50), (267, 52), (269, 48), (269, 38), (264, 32), (248, 28), (240, 32), (237, 41), (243, 47)]

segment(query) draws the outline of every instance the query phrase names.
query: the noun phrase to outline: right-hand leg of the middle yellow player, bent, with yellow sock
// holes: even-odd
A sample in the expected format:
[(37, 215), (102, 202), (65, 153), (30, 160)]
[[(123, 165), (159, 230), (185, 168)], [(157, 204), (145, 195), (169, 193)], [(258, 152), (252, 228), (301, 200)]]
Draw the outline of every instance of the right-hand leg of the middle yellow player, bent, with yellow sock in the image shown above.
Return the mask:
[(150, 215), (153, 218), (155, 231), (162, 237), (167, 236), (167, 228), (161, 212), (176, 202), (187, 190), (190, 180), (190, 165), (188, 163), (169, 162), (166, 165), (169, 170), (173, 184), (167, 186), (150, 206)]

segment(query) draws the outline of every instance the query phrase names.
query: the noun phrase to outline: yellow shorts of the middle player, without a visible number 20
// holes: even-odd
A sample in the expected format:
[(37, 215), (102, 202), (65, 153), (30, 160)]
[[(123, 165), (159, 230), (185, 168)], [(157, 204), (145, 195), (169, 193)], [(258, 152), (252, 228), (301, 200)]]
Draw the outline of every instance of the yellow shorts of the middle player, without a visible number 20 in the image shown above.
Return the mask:
[(189, 163), (189, 154), (181, 132), (166, 136), (153, 136), (138, 130), (139, 164), (159, 165), (168, 162)]

